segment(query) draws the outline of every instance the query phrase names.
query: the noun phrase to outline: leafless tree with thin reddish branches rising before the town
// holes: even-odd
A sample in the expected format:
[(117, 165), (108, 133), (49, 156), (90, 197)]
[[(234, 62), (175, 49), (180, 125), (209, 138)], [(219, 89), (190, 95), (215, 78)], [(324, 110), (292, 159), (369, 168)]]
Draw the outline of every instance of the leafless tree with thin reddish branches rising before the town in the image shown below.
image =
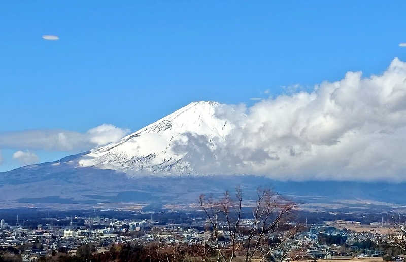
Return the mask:
[[(246, 262), (254, 257), (263, 261), (277, 250), (278, 260), (283, 260), (288, 255), (291, 246), (288, 239), (292, 238), (295, 230), (289, 229), (279, 235), (276, 233), (296, 207), (294, 203), (283, 199), (272, 190), (258, 189), (256, 202), (251, 205), (251, 219), (242, 219), (243, 196), (240, 189), (236, 190), (234, 198), (226, 191), (219, 200), (201, 195), (199, 202), (212, 228), (212, 243), (218, 251), (217, 261), (232, 262), (238, 256)], [(226, 234), (229, 241), (220, 241), (220, 232)], [(282, 241), (270, 243), (271, 237), (279, 239), (281, 236)]]

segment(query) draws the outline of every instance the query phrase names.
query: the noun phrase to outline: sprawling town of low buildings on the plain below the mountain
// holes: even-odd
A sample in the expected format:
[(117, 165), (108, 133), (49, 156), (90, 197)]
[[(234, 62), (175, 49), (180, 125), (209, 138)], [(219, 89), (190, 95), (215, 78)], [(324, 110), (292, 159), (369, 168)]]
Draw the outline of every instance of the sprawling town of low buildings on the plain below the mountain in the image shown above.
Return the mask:
[[(221, 236), (219, 241), (214, 240), (208, 219), (201, 212), (138, 211), (133, 216), (136, 218), (107, 218), (103, 217), (103, 212), (97, 215), (94, 212), (92, 216), (46, 217), (37, 220), (41, 223), (36, 226), (18, 216), (13, 224), (1, 219), (0, 252), (3, 260), (0, 261), (33, 262), (52, 258), (58, 261), (56, 257), (86, 261), (83, 256), (104, 254), (114, 246), (128, 244), (206, 246), (213, 250), (227, 249), (232, 244), (226, 224), (221, 224), (216, 232)], [(172, 219), (182, 216), (184, 221)], [(244, 227), (252, 226), (252, 223), (253, 219), (245, 218), (240, 224)], [(401, 239), (402, 235), (392, 230), (393, 224), (383, 219), (368, 225), (343, 220), (310, 224), (306, 219), (304, 223), (289, 222), (285, 226), (300, 230), (289, 235), (284, 245), (275, 246), (275, 254), (286, 251), (286, 256), (279, 256), (284, 261), (354, 257), (404, 259), (401, 249), (391, 244), (394, 238)], [(284, 230), (272, 234), (270, 239), (274, 240), (286, 237)], [(244, 241), (244, 238), (237, 239)]]

